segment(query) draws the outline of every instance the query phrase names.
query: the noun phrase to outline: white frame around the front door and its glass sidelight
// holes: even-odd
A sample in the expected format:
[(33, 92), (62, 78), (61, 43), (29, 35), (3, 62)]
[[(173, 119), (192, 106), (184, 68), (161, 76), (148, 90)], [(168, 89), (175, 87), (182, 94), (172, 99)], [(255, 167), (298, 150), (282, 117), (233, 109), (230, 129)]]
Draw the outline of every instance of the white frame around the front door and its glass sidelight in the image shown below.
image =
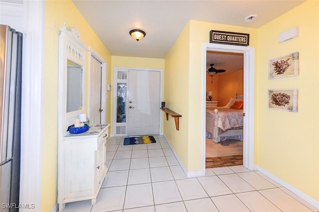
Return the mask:
[[(120, 134), (116, 134), (116, 103), (117, 103), (117, 72), (118, 71), (125, 71), (127, 72), (127, 76), (129, 70), (141, 70), (141, 71), (158, 71), (160, 72), (160, 102), (162, 102), (163, 100), (163, 70), (162, 69), (146, 69), (146, 68), (128, 68), (128, 67), (114, 67), (113, 69), (113, 82), (114, 82), (114, 89), (113, 89), (113, 111), (112, 111), (112, 123), (113, 123), (113, 130), (111, 132), (111, 136), (119, 136)], [(127, 78), (127, 86), (129, 86), (129, 79)], [(126, 108), (127, 109), (127, 108)], [(159, 106), (160, 109), (160, 106)], [(127, 114), (127, 111), (126, 111)], [(124, 125), (124, 124), (121, 124)], [(126, 134), (121, 134), (121, 135), (128, 135), (128, 123), (127, 121), (125, 122), (125, 126), (126, 126)], [(161, 113), (160, 113), (160, 134), (162, 134), (162, 118), (161, 118)]]

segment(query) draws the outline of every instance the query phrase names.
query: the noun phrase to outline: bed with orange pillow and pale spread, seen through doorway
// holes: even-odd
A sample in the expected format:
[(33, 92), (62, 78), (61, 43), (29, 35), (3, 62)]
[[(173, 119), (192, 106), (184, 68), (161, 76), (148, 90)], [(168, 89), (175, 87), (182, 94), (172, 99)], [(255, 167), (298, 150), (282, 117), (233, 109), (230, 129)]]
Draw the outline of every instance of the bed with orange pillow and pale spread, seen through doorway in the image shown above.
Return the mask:
[(235, 93), (223, 107), (206, 107), (206, 137), (215, 143), (243, 140), (243, 96)]

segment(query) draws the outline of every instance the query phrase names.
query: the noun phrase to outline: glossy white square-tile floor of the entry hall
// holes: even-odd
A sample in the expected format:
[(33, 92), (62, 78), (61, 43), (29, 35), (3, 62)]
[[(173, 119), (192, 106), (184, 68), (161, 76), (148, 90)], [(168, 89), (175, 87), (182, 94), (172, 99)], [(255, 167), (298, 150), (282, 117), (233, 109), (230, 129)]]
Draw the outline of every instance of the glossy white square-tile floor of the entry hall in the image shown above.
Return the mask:
[(108, 140), (109, 171), (94, 206), (66, 204), (64, 212), (318, 212), (258, 171), (243, 166), (206, 169), (187, 178), (167, 141), (123, 145)]

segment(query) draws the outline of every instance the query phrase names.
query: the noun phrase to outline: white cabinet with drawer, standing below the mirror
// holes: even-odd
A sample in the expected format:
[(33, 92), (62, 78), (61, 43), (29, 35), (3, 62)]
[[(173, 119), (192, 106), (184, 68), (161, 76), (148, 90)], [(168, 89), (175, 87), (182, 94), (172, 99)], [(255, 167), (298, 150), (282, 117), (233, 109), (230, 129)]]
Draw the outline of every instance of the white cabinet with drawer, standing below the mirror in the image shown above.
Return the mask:
[(98, 124), (80, 135), (64, 136), (58, 161), (59, 211), (69, 202), (91, 200), (92, 205), (95, 204), (108, 171), (109, 126)]

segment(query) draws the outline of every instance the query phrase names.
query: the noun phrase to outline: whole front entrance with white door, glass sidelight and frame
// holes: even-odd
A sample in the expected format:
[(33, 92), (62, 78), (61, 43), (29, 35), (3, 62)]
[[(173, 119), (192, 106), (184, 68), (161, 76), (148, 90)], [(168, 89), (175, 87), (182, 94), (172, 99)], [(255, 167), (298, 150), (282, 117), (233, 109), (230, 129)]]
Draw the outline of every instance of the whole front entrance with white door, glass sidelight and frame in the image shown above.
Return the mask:
[(162, 70), (114, 67), (112, 136), (159, 134)]

